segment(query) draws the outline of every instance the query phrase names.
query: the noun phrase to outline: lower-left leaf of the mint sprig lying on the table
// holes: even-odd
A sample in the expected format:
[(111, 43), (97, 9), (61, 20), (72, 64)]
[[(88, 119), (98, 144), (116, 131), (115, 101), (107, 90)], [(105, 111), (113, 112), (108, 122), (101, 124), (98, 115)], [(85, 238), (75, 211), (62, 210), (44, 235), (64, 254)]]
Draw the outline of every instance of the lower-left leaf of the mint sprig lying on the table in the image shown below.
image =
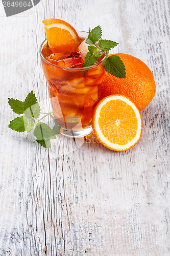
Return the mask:
[(16, 132), (22, 133), (26, 131), (26, 125), (28, 124), (28, 119), (25, 116), (16, 117), (8, 127)]

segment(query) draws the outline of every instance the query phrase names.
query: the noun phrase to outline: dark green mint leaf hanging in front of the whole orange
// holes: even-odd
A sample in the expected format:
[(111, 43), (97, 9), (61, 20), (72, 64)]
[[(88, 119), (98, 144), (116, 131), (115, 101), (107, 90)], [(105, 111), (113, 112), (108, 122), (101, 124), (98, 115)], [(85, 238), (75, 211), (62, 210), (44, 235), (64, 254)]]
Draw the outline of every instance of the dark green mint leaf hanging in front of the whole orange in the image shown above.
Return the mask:
[(126, 78), (124, 63), (117, 55), (111, 55), (103, 62), (103, 68), (113, 76)]

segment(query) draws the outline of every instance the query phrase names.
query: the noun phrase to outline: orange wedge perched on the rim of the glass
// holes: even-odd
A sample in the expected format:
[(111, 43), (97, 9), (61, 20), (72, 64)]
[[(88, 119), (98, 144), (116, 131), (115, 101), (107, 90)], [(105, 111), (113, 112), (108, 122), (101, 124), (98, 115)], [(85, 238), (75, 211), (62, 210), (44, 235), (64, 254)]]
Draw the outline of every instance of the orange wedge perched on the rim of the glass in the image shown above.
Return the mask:
[(76, 30), (64, 20), (57, 18), (44, 19), (42, 21), (48, 45), (57, 48), (58, 52), (74, 52), (81, 44)]

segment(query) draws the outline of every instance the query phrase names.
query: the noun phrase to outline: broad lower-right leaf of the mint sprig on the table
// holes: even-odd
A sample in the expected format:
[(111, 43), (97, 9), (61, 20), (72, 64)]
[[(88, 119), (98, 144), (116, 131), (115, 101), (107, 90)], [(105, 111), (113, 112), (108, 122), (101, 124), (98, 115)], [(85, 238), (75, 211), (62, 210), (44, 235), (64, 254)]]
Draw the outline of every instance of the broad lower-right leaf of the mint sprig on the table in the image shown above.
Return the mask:
[(37, 123), (34, 129), (34, 136), (37, 140), (56, 139), (54, 131), (46, 123)]

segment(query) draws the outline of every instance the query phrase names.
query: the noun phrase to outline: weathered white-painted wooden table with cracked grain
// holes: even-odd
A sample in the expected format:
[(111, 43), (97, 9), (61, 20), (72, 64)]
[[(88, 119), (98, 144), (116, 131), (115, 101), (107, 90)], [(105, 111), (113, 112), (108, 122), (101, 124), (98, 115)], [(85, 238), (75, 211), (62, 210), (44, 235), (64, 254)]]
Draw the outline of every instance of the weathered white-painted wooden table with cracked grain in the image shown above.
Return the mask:
[[(1, 3), (1, 255), (170, 255), (169, 0), (41, 0), (6, 17)], [(40, 65), (44, 18), (77, 30), (100, 25), (154, 74), (156, 96), (141, 112), (143, 132), (128, 152), (92, 135), (59, 135), (51, 149), (9, 130), (8, 97), (33, 90), (49, 108)]]

